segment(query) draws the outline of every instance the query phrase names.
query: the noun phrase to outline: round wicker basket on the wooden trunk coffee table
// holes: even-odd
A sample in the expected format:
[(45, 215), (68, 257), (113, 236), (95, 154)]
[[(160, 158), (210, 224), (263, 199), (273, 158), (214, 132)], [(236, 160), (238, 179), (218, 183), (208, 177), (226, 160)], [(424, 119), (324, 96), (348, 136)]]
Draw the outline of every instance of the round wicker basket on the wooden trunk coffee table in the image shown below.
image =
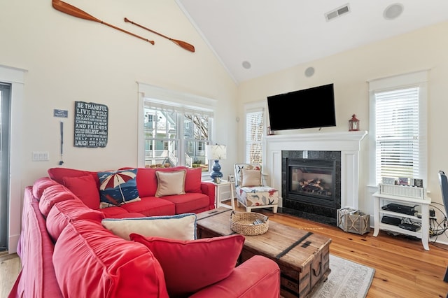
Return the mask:
[[(261, 223), (254, 224), (259, 220)], [(232, 212), (230, 215), (230, 229), (241, 235), (265, 234), (269, 227), (269, 219), (266, 215), (255, 212)]]

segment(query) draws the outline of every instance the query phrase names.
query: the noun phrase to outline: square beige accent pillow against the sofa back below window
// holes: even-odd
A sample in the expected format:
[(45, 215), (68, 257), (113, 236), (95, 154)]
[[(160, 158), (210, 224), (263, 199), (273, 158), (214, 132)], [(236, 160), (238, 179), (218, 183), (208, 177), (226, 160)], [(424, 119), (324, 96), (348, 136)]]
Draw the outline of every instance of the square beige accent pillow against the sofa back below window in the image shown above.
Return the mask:
[(172, 172), (155, 171), (158, 180), (155, 197), (185, 194), (186, 172), (186, 170)]

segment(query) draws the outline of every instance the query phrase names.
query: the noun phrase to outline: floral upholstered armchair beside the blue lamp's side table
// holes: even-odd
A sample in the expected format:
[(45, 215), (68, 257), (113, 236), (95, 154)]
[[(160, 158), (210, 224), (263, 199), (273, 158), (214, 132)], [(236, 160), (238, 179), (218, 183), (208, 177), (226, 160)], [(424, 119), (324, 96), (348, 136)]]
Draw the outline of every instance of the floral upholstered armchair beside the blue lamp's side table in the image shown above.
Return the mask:
[(237, 206), (246, 207), (247, 212), (253, 208), (269, 208), (277, 212), (279, 191), (263, 185), (260, 164), (235, 164), (235, 190)]

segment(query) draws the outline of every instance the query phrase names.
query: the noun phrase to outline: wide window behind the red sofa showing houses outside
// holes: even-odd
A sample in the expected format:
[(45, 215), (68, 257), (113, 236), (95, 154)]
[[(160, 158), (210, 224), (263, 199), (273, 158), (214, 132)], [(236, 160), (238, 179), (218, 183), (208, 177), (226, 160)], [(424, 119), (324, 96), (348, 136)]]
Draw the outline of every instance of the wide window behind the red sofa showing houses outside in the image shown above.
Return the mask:
[(196, 97), (188, 94), (161, 92), (160, 88), (148, 85), (142, 85), (142, 90), (153, 96), (142, 94), (141, 97), (141, 113), (144, 114), (141, 147), (144, 152), (139, 153), (143, 159), (139, 164), (146, 167), (183, 165), (209, 171), (206, 148), (211, 143), (214, 115), (211, 108), (195, 106), (196, 101), (189, 99)]

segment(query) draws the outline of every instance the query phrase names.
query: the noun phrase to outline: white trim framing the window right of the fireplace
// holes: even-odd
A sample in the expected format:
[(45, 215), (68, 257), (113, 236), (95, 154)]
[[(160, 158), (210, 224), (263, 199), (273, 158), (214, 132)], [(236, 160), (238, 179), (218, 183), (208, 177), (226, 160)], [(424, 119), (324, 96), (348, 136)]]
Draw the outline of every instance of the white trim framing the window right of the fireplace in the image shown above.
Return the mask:
[[(370, 101), (370, 133), (369, 152), (376, 152), (376, 129), (375, 129), (375, 96), (374, 92), (397, 90), (405, 87), (419, 87), (419, 160), (421, 169), (419, 171), (423, 179), (423, 186), (428, 183), (428, 76), (429, 71), (415, 71), (398, 76), (389, 76), (369, 80), (369, 101)], [(377, 186), (376, 182), (376, 154), (369, 155), (369, 185)]]

